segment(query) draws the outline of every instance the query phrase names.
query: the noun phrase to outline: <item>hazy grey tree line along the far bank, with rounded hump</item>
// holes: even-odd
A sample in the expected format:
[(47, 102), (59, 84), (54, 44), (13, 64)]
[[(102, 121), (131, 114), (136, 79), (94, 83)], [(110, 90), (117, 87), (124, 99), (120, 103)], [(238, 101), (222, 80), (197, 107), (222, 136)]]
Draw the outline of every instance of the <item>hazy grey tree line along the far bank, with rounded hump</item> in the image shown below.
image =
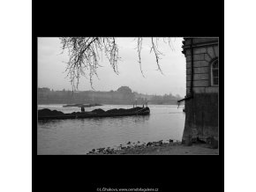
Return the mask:
[[(72, 104), (72, 103), (100, 103), (100, 104), (124, 104), (132, 105), (137, 102), (138, 105), (147, 104), (177, 104), (180, 100), (179, 95), (173, 96), (171, 93), (165, 95), (148, 95), (138, 92), (132, 92), (128, 86), (121, 86), (117, 91), (95, 92), (79, 91), (72, 92), (54, 91), (47, 87), (38, 88), (38, 104)], [(137, 101), (136, 101), (137, 100)]]

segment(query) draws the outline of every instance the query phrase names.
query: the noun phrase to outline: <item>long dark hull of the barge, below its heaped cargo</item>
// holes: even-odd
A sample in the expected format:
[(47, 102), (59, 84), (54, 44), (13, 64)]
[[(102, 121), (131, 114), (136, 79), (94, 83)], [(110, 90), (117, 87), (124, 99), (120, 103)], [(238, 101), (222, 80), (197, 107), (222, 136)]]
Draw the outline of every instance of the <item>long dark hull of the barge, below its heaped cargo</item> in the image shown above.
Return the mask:
[(134, 116), (134, 115), (147, 115), (148, 111), (135, 112), (135, 113), (123, 113), (123, 114), (64, 114), (64, 115), (51, 115), (51, 116), (38, 116), (38, 120), (55, 120), (55, 119), (85, 119), (94, 117), (115, 117), (115, 116)]

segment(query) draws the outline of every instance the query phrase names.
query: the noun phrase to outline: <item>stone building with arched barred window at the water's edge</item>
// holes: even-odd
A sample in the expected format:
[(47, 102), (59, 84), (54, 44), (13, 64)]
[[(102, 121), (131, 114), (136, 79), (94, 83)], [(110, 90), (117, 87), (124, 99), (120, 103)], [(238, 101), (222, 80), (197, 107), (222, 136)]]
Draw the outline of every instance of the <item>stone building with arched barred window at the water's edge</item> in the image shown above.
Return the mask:
[(186, 57), (183, 141), (219, 137), (218, 38), (184, 38)]

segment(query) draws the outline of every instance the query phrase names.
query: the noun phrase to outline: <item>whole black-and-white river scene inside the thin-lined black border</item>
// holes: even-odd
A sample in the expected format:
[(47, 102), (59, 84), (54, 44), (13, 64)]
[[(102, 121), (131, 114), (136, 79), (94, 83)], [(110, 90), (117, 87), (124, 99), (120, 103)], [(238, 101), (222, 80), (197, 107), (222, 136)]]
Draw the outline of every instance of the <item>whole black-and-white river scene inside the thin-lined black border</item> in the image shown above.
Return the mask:
[(219, 154), (218, 37), (37, 46), (38, 155)]

